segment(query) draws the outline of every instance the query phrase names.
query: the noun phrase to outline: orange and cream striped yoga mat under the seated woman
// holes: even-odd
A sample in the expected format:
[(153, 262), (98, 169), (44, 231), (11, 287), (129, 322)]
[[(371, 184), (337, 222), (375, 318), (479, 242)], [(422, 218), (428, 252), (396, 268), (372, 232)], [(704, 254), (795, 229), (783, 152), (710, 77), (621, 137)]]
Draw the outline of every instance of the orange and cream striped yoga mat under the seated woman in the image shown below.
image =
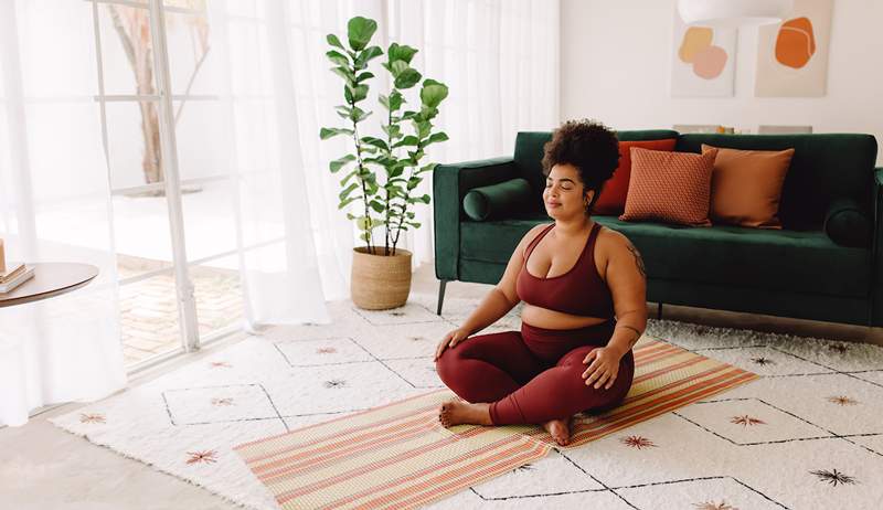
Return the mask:
[[(757, 379), (647, 337), (634, 348), (626, 400), (577, 415), (574, 448)], [(438, 423), (447, 389), (236, 446), (284, 509), (418, 508), (544, 457), (554, 439), (538, 425)]]

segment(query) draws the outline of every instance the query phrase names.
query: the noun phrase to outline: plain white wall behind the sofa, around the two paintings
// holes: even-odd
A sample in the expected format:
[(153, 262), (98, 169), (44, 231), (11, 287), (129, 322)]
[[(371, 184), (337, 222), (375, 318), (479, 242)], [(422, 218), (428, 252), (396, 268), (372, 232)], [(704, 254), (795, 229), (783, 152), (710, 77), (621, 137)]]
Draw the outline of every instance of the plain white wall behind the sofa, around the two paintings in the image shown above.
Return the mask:
[(738, 32), (735, 94), (669, 94), (675, 0), (562, 0), (562, 120), (589, 117), (616, 129), (714, 124), (757, 132), (760, 124), (813, 132), (869, 132), (883, 166), (881, 0), (834, 0), (823, 97), (754, 97), (757, 30)]

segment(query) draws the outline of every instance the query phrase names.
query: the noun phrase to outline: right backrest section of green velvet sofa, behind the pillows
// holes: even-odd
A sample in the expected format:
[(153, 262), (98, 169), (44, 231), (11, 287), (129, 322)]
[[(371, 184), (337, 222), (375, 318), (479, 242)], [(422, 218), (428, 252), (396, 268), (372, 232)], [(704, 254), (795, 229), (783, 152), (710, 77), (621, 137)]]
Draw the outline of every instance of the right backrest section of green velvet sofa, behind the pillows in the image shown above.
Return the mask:
[(674, 150), (701, 152), (702, 144), (753, 150), (794, 148), (779, 203), (786, 229), (817, 230), (834, 199), (850, 198), (873, 217), (876, 139), (861, 134), (716, 135), (685, 134)]

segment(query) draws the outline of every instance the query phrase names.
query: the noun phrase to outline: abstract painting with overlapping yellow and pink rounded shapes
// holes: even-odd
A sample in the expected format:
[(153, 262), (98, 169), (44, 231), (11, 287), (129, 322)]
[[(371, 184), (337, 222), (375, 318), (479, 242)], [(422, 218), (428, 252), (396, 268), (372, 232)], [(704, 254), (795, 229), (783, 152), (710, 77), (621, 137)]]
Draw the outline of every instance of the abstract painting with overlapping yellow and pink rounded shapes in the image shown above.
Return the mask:
[(674, 9), (671, 95), (732, 96), (736, 31), (688, 26)]

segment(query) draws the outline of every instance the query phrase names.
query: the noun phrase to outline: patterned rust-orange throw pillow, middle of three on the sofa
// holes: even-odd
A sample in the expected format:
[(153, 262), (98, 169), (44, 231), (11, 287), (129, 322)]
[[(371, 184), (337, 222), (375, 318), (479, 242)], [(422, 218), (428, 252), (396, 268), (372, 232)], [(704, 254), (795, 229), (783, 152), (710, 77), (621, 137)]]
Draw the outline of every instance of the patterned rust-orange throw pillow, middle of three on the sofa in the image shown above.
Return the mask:
[(701, 155), (631, 148), (631, 180), (619, 220), (711, 226), (711, 173), (716, 150)]

